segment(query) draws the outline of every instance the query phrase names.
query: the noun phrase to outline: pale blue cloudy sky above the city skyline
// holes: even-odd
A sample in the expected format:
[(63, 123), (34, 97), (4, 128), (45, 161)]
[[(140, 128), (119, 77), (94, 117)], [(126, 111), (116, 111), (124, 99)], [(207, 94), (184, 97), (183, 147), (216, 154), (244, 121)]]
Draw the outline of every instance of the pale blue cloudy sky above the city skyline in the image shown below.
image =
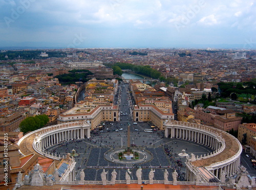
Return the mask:
[(0, 0), (0, 46), (256, 49), (255, 0)]

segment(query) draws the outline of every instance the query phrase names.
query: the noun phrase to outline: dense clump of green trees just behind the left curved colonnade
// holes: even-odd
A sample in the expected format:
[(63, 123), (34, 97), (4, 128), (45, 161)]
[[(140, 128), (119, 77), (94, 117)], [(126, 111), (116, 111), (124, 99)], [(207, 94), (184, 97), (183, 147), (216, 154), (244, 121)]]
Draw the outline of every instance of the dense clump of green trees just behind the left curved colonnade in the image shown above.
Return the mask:
[(20, 131), (27, 133), (29, 131), (34, 131), (41, 127), (44, 127), (49, 122), (47, 115), (38, 115), (34, 117), (28, 117), (19, 124)]

